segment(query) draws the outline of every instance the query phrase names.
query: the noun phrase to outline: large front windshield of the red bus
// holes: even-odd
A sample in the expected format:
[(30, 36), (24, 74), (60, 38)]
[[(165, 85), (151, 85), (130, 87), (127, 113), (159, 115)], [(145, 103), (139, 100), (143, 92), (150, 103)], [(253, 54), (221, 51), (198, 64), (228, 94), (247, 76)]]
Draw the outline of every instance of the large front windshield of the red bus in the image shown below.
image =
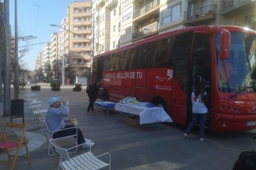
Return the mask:
[(256, 91), (256, 36), (231, 32), (228, 59), (220, 59), (220, 34), (216, 34), (218, 89), (221, 92)]

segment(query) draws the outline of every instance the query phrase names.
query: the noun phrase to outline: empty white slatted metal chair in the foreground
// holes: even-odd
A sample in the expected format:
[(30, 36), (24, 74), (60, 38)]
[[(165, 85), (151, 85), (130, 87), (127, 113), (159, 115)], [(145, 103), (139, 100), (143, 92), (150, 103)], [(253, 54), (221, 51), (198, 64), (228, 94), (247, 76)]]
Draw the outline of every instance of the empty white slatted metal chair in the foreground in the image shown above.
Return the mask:
[[(56, 140), (58, 139), (50, 139), (49, 142), (51, 143), (51, 145), (54, 146), (56, 152), (58, 152), (59, 155), (61, 156), (61, 158), (59, 159), (59, 167), (61, 167), (62, 169), (101, 169), (106, 166), (109, 166), (109, 169), (111, 169), (110, 153), (103, 153), (101, 155), (95, 156), (91, 152), (91, 148), (90, 148), (90, 152), (86, 152), (81, 155), (75, 156), (74, 158), (70, 158), (68, 150), (75, 147), (79, 147), (80, 145), (83, 145), (83, 144), (66, 149), (58, 145)], [(101, 161), (99, 159), (99, 157), (105, 156), (105, 155), (108, 155), (109, 157), (108, 163)], [(62, 161), (62, 158), (64, 159), (64, 161)]]

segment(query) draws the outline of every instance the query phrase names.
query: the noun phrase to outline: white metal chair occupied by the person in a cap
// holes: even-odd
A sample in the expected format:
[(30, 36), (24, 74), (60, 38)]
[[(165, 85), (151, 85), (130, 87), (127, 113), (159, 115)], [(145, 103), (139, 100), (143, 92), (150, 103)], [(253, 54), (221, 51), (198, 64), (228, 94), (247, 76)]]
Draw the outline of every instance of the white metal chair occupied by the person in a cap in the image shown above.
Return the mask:
[[(57, 154), (54, 152), (53, 147), (51, 146), (51, 143), (50, 143), (50, 142), (48, 143), (48, 141), (51, 140), (51, 139), (53, 139), (53, 134), (54, 134), (54, 132), (64, 131), (64, 130), (66, 130), (66, 129), (61, 129), (61, 130), (59, 130), (59, 131), (49, 131), (49, 128), (48, 128), (48, 125), (47, 125), (47, 123), (46, 123), (45, 118), (41, 118), (41, 121), (43, 121), (43, 123), (45, 124), (45, 125), (44, 125), (44, 127), (45, 127), (45, 131), (44, 131), (44, 132), (45, 132), (45, 134), (46, 134), (45, 148), (48, 148), (48, 155), (49, 155), (49, 156), (57, 155)], [(76, 134), (71, 135), (71, 136), (66, 136), (66, 137), (60, 137), (60, 138), (56, 138), (56, 139), (65, 139), (65, 138), (69, 137), (69, 145), (70, 145), (70, 144), (71, 144), (71, 139), (72, 139), (72, 137), (77, 136), (77, 127), (74, 126), (74, 127), (70, 127), (70, 128), (67, 128), (67, 129), (72, 129), (72, 128), (75, 128), (75, 129), (76, 129)], [(75, 145), (77, 145), (77, 137), (76, 137), (76, 139), (75, 139)], [(73, 147), (73, 148), (74, 148), (74, 147)], [(70, 153), (75, 153), (75, 152), (77, 152), (77, 148), (75, 148), (74, 151), (70, 151)]]

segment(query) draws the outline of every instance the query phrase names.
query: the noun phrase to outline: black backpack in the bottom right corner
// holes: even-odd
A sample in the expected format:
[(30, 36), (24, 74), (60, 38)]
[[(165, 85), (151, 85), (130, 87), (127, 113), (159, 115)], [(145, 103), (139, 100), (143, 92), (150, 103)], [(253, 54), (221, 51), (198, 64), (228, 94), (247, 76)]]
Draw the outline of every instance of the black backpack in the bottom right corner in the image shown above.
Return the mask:
[(233, 170), (256, 169), (256, 153), (254, 150), (242, 152), (233, 166)]

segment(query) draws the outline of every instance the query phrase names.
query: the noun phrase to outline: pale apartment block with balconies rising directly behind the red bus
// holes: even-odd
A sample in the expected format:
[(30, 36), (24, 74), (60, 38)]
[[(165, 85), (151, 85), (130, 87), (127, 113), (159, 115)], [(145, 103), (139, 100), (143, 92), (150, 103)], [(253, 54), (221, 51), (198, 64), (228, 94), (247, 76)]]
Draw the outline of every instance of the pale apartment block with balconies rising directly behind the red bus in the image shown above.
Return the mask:
[[(255, 0), (96, 0), (94, 38), (102, 52), (197, 25), (237, 25), (255, 30)], [(109, 31), (109, 32), (108, 32)], [(95, 54), (99, 54), (95, 47)]]

